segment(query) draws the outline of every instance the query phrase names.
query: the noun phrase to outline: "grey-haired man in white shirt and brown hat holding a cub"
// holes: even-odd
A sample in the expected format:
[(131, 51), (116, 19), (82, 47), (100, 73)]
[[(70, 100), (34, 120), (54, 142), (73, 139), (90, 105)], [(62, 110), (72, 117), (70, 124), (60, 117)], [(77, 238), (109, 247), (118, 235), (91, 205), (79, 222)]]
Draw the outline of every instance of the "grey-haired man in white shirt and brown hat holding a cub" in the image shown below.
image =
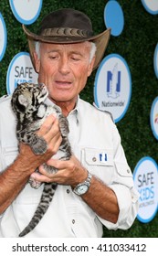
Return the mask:
[[(47, 152), (35, 155), (26, 144), (17, 149), (16, 121), (11, 96), (0, 101), (0, 236), (17, 237), (32, 218), (42, 193), (27, 183), (58, 184), (44, 218), (26, 237), (101, 237), (107, 229), (128, 229), (138, 210), (138, 193), (121, 138), (108, 112), (79, 99), (79, 92), (96, 69), (107, 47), (110, 29), (93, 36), (90, 18), (73, 9), (47, 15), (38, 33), (23, 29), (30, 56), (45, 83), (48, 104), (68, 118), (73, 155), (68, 161), (52, 156), (61, 144), (58, 119), (50, 115), (37, 133)], [(55, 166), (47, 174), (43, 163)], [(40, 175), (34, 173), (39, 166)]]

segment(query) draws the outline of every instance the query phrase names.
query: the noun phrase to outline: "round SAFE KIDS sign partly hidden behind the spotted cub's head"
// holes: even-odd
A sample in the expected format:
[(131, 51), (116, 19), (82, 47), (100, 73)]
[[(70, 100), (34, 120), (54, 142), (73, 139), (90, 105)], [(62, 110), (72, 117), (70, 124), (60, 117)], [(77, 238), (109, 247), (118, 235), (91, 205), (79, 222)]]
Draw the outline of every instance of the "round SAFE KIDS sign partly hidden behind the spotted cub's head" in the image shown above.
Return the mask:
[(32, 66), (30, 55), (27, 52), (16, 54), (9, 64), (6, 75), (7, 94), (13, 93), (17, 83), (22, 82), (37, 83), (37, 73)]

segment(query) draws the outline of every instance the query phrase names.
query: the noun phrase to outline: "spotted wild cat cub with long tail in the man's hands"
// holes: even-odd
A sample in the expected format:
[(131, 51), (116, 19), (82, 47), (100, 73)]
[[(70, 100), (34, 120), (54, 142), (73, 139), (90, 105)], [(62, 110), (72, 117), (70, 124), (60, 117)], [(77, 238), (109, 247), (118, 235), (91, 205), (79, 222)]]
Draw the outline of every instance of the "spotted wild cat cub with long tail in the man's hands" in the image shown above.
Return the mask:
[[(58, 150), (59, 159), (68, 160), (71, 156), (71, 148), (68, 142), (68, 120), (62, 115), (58, 106), (47, 106), (44, 102), (47, 99), (47, 94), (48, 91), (45, 84), (24, 82), (17, 85), (11, 100), (13, 112), (16, 114), (16, 137), (18, 142), (29, 144), (36, 155), (45, 154), (47, 142), (42, 137), (39, 137), (36, 131), (50, 113), (55, 113), (58, 117), (62, 136), (62, 143)], [(58, 171), (47, 164), (44, 164), (44, 167), (48, 173), (56, 173)], [(33, 178), (30, 178), (28, 182), (34, 188), (38, 188), (41, 185), (40, 182), (35, 181)], [(46, 213), (56, 188), (57, 184), (55, 183), (44, 184), (37, 210), (26, 228), (19, 234), (19, 237), (23, 237), (32, 229), (35, 229)]]

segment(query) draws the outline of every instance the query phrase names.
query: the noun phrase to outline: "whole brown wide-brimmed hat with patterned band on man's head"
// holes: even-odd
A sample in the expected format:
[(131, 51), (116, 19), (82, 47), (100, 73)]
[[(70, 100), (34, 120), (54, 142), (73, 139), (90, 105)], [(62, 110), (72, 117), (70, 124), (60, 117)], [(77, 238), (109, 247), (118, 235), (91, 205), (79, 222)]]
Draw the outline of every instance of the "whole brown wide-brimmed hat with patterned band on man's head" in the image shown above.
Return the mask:
[(109, 28), (94, 36), (90, 18), (84, 13), (71, 8), (59, 9), (45, 16), (37, 33), (30, 32), (25, 25), (22, 26), (28, 39), (30, 56), (34, 67), (33, 52), (35, 51), (35, 41), (52, 44), (91, 41), (97, 47), (93, 67), (93, 69), (96, 69), (100, 64), (111, 35), (111, 29)]

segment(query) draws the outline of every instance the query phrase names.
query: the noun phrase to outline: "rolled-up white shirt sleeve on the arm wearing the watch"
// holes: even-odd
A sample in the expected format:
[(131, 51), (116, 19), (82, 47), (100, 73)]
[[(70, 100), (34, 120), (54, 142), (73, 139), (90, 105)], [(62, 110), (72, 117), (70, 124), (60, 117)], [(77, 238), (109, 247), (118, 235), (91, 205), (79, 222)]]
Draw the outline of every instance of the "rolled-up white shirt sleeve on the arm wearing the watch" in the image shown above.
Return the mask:
[(137, 216), (140, 195), (134, 187), (132, 171), (127, 163), (121, 146), (121, 137), (115, 125), (113, 125), (113, 148), (114, 176), (109, 187), (118, 199), (119, 218), (115, 224), (98, 218), (107, 229), (129, 229)]

